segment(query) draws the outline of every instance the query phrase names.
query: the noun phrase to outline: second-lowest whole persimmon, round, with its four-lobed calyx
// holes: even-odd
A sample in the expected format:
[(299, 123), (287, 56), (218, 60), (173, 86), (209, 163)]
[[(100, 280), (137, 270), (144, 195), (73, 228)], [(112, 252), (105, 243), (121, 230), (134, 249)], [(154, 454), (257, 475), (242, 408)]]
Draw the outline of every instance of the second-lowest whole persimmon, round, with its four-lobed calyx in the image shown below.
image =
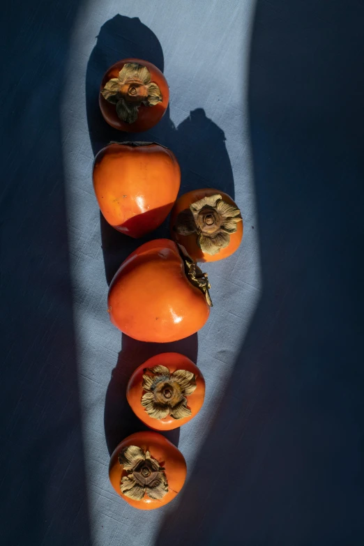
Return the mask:
[(134, 411), (154, 430), (172, 430), (194, 418), (204, 404), (205, 381), (199, 368), (179, 353), (162, 353), (137, 367), (126, 397)]

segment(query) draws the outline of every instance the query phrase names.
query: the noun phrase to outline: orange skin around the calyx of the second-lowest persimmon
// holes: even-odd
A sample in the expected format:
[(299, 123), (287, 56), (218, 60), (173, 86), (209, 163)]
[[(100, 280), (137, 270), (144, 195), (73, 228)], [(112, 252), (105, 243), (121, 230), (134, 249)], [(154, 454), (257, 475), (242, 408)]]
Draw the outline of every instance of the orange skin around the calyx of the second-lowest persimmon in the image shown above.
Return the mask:
[[(144, 395), (145, 390), (143, 390), (143, 374), (146, 367), (154, 367), (161, 364), (169, 369), (169, 372), (172, 374), (176, 370), (187, 370), (192, 372), (196, 377), (196, 389), (192, 395), (187, 397), (188, 407), (190, 408), (192, 414), (189, 417), (184, 417), (182, 419), (174, 419), (170, 415), (163, 419), (153, 419), (150, 417), (144, 407), (142, 406), (141, 400), (142, 395)], [(198, 367), (190, 361), (190, 358), (183, 356), (179, 353), (162, 353), (156, 356), (149, 358), (144, 364), (137, 367), (135, 372), (129, 379), (128, 386), (126, 388), (126, 397), (130, 404), (132, 411), (135, 415), (139, 417), (146, 425), (148, 425), (153, 430), (172, 430), (174, 428), (181, 427), (185, 423), (188, 423), (202, 408), (204, 404), (205, 397), (205, 380), (202, 376), (202, 373), (199, 371)]]

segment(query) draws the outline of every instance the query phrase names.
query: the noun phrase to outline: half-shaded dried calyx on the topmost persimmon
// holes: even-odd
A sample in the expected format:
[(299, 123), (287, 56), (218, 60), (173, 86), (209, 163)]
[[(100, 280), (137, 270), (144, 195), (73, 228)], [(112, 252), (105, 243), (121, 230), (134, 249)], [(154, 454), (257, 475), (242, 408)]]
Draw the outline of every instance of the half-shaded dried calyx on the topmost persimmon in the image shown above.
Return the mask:
[(125, 123), (134, 123), (140, 105), (155, 106), (162, 102), (158, 85), (151, 82), (151, 73), (139, 63), (126, 63), (101, 91), (103, 97), (115, 105), (116, 114)]

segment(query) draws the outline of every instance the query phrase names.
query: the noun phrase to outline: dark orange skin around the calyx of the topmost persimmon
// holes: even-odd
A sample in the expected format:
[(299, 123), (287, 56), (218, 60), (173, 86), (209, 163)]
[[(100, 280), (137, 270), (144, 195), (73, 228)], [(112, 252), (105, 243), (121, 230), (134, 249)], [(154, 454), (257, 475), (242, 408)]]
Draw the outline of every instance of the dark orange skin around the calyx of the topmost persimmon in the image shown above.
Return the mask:
[[(109, 103), (103, 97), (103, 95), (101, 95), (101, 91), (104, 89), (105, 84), (109, 81), (109, 79), (119, 77), (119, 72), (126, 63), (139, 63), (142, 66), (146, 66), (151, 73), (151, 82), (156, 83), (162, 93), (162, 102), (158, 103), (158, 105), (151, 107), (141, 105), (139, 107), (138, 119), (134, 123), (125, 123), (125, 121), (119, 119), (116, 114), (115, 105)], [(162, 119), (162, 116), (165, 114), (167, 109), (168, 101), (169, 88), (164, 75), (160, 72), (159, 68), (154, 66), (152, 63), (142, 61), (141, 59), (122, 59), (122, 61), (118, 61), (117, 63), (113, 64), (105, 73), (100, 85), (99, 104), (101, 113), (109, 125), (115, 129), (119, 129), (120, 131), (142, 132), (151, 129), (158, 123), (158, 121), (160, 121), (160, 119)]]

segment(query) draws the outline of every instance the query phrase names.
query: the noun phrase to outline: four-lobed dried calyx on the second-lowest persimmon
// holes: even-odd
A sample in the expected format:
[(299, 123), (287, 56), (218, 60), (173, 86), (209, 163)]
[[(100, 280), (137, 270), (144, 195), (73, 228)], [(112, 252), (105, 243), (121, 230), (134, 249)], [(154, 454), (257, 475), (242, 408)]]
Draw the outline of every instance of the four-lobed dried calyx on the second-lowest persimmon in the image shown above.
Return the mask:
[(195, 392), (196, 377), (187, 370), (176, 370), (172, 374), (166, 366), (146, 367), (142, 387), (142, 406), (153, 419), (163, 419), (170, 415), (183, 419), (191, 415), (186, 396)]

